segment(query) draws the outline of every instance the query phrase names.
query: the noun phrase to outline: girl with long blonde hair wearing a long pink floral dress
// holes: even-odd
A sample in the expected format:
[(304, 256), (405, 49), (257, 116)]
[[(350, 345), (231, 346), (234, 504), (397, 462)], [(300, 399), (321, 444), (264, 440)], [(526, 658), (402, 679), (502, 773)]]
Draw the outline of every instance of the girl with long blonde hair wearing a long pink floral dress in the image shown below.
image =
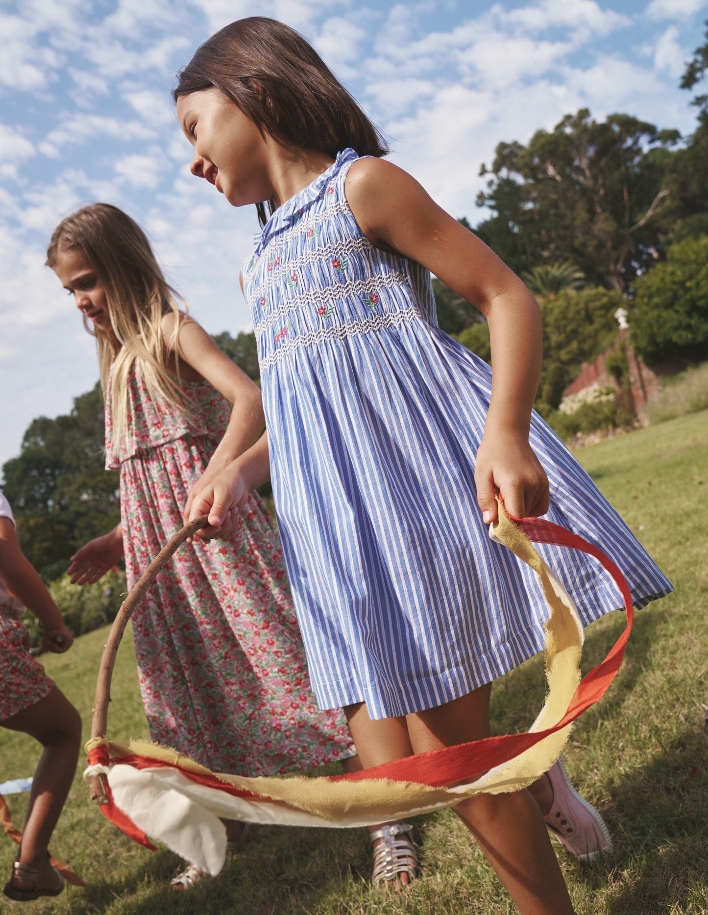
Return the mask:
[[(133, 587), (181, 527), (195, 480), (205, 485), (261, 435), (261, 394), (180, 313), (145, 234), (122, 210), (99, 203), (74, 213), (47, 257), (96, 337), (106, 467), (121, 471), (122, 521), (73, 556), (71, 580), (98, 581), (124, 555)], [(341, 711), (316, 710), (278, 536), (258, 495), (224, 527), (233, 541), (185, 544), (135, 611), (152, 738), (217, 772), (348, 759)], [(227, 827), (235, 841), (239, 824)], [(200, 876), (188, 867), (173, 884), (189, 888)]]

